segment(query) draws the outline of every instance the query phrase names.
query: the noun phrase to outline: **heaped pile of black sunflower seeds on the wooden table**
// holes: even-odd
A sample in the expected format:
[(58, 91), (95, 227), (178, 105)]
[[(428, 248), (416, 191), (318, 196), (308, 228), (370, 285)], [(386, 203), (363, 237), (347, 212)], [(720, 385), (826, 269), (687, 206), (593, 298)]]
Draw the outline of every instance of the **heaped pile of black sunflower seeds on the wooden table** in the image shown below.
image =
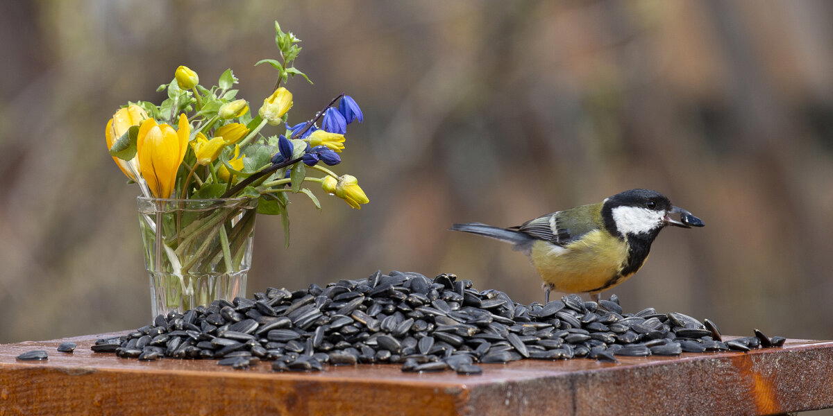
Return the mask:
[(586, 302), (567, 295), (522, 305), (471, 280), (377, 272), (307, 290), (268, 288), (253, 299), (216, 300), (153, 323), (92, 350), (141, 360), (219, 359), (246, 369), (272, 361), (276, 371), (319, 371), (324, 364), (402, 364), (402, 371), (453, 369), (480, 374), (476, 363), (518, 359), (591, 359), (749, 351), (782, 337), (724, 341), (715, 324), (685, 314), (622, 311), (616, 295)]

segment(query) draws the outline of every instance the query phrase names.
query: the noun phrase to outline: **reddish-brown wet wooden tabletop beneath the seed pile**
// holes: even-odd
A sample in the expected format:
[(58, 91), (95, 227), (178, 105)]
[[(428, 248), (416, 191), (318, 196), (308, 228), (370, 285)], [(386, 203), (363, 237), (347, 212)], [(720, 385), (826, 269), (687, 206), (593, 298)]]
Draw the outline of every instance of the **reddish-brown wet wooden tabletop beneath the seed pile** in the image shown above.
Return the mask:
[[(398, 365), (274, 373), (214, 360), (141, 362), (90, 351), (93, 334), (0, 345), (0, 416), (784, 414), (833, 407), (833, 341), (790, 339), (749, 353), (521, 360), (483, 374), (402, 373)], [(74, 354), (57, 344), (78, 344)], [(17, 354), (46, 349), (43, 362)]]

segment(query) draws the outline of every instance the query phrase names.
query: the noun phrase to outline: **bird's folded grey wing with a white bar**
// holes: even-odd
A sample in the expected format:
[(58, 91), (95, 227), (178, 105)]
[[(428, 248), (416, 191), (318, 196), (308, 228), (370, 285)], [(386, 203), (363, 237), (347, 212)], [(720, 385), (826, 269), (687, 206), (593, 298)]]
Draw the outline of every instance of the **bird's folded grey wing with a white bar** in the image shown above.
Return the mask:
[[(600, 207), (601, 212), (601, 207)], [(539, 240), (549, 241), (555, 245), (568, 245), (582, 235), (599, 229), (593, 206), (577, 206), (570, 210), (560, 210), (528, 220), (511, 229), (521, 231)]]

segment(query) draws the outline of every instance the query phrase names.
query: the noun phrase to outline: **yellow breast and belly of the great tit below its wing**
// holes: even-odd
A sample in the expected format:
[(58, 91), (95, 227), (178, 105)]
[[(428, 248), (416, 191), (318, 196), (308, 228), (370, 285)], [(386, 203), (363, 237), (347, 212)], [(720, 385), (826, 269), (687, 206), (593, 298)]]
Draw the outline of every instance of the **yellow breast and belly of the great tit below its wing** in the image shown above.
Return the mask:
[(591, 231), (564, 247), (538, 240), (530, 253), (541, 279), (553, 290), (567, 293), (596, 293), (625, 281), (629, 276), (613, 280), (627, 256), (625, 241), (601, 230)]

